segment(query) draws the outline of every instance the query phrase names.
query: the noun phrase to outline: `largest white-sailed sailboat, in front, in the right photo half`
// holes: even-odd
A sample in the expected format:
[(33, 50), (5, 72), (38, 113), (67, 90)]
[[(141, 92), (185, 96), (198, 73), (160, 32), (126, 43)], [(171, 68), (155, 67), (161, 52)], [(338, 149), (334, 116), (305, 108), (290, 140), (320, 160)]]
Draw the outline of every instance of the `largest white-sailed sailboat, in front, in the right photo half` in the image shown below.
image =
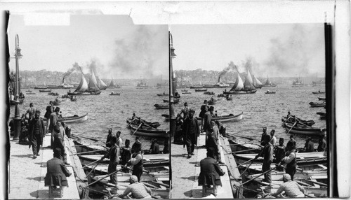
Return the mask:
[[(235, 66), (235, 69), (237, 69), (237, 66)], [(243, 83), (243, 81), (239, 75), (239, 71), (237, 70), (237, 80), (235, 80), (235, 83), (234, 83), (232, 89), (230, 89), (229, 92), (223, 91), (223, 94), (253, 94), (256, 92), (257, 92), (257, 90), (253, 86), (253, 80), (251, 78), (250, 71), (248, 71), (247, 76), (246, 76), (246, 80)]]

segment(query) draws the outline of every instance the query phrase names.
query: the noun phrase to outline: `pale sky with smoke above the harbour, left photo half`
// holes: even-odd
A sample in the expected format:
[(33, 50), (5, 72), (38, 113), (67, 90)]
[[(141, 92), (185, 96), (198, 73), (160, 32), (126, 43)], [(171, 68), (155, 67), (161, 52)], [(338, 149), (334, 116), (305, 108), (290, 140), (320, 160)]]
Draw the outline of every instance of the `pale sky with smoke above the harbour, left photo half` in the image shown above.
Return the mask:
[[(167, 25), (135, 25), (127, 15), (70, 15), (67, 26), (28, 25), (25, 19), (10, 15), (8, 24), (11, 57), (19, 36), (20, 70), (66, 72), (77, 62), (100, 78), (168, 77)], [(9, 66), (15, 69), (15, 59)]]

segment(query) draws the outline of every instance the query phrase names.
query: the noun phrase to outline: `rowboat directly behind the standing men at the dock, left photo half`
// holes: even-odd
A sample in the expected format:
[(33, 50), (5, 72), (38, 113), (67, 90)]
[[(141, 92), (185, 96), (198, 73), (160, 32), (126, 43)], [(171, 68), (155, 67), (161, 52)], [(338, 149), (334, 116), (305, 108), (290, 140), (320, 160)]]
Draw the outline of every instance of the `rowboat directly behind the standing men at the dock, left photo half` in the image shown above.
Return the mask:
[[(98, 161), (104, 155), (79, 155), (81, 164), (83, 166), (91, 164), (91, 162)], [(100, 164), (109, 164), (110, 159), (105, 158)], [(144, 166), (165, 166), (169, 164), (169, 154), (152, 154), (143, 155)]]

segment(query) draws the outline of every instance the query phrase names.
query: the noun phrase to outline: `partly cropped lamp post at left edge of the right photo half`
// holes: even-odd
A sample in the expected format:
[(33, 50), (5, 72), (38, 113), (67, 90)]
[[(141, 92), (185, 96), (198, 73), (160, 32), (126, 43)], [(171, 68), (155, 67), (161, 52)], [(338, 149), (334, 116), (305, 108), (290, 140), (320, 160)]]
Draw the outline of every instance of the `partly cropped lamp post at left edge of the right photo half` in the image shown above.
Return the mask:
[(168, 31), (169, 34), (169, 95), (170, 95), (170, 99), (169, 99), (169, 120), (171, 122), (171, 137), (173, 137), (176, 134), (176, 116), (174, 114), (174, 100), (173, 100), (173, 96), (174, 96), (174, 86), (173, 86), (173, 82), (174, 82), (174, 77), (173, 77), (173, 64), (172, 64), (172, 59), (176, 58), (176, 54), (174, 53), (174, 48), (173, 48), (173, 37), (170, 31)]

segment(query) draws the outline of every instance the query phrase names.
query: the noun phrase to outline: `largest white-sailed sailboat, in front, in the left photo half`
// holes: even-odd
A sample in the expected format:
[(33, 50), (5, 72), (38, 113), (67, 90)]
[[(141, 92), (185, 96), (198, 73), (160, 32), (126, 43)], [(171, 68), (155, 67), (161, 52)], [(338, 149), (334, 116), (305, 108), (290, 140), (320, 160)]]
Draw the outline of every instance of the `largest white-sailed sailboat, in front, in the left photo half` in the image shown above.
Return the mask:
[(91, 74), (91, 80), (89, 82), (89, 85), (86, 82), (86, 79), (84, 78), (83, 71), (81, 71), (81, 82), (79, 83), (77, 89), (74, 90), (74, 92), (67, 92), (67, 95), (96, 95), (101, 93), (98, 84), (96, 83), (94, 72)]

